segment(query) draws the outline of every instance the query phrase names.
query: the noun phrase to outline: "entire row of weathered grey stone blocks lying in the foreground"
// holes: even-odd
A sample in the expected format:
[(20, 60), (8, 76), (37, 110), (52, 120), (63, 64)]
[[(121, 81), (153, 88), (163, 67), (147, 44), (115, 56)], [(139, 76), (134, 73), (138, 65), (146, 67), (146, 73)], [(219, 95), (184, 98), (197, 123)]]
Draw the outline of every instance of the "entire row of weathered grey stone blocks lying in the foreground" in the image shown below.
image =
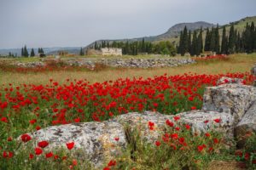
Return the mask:
[[(188, 111), (176, 116), (180, 116), (179, 121), (189, 124), (193, 131), (218, 131), (223, 133), (225, 138), (237, 139), (238, 144), (242, 146), (244, 134), (247, 131), (256, 132), (256, 88), (241, 82), (230, 79), (230, 82), (224, 83), (220, 80), (217, 87), (206, 89), (201, 111)], [(165, 129), (167, 119), (173, 121), (174, 116), (153, 111), (133, 112), (105, 122), (80, 122), (46, 127), (31, 135), (34, 144), (47, 140), (51, 149), (65, 147), (67, 142), (73, 141), (75, 149), (84, 150), (90, 162), (100, 167), (127, 146), (127, 126), (138, 129), (142, 139), (154, 142)], [(216, 123), (216, 119), (221, 121)], [(154, 131), (148, 129), (149, 121), (154, 122)]]

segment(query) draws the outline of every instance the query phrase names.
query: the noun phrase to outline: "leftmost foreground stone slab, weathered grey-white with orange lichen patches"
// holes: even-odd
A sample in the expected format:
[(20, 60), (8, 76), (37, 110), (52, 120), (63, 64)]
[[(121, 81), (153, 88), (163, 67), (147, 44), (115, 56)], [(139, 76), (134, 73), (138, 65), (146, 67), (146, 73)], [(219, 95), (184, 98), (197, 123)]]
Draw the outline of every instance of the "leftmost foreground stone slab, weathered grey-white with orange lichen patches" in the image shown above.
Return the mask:
[[(84, 150), (87, 160), (95, 167), (121, 153), (126, 147), (125, 129), (118, 122), (84, 122), (46, 127), (31, 133), (35, 145), (39, 141), (49, 142), (47, 149), (66, 148), (74, 142), (74, 150)], [(117, 140), (118, 139), (118, 140)]]

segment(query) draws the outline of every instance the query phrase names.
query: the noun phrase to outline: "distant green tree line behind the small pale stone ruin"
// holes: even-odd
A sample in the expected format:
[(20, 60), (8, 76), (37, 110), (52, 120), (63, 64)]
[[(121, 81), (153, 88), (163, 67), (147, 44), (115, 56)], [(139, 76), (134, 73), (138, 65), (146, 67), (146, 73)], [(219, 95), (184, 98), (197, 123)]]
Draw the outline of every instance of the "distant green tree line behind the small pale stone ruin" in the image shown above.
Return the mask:
[(116, 42), (112, 43), (108, 41), (95, 42), (93, 47), (94, 49), (100, 48), (122, 48), (123, 54), (137, 55), (137, 54), (168, 54), (174, 56), (177, 53), (177, 50), (174, 46), (174, 43), (166, 42), (146, 42), (143, 38), (142, 41), (136, 42)]

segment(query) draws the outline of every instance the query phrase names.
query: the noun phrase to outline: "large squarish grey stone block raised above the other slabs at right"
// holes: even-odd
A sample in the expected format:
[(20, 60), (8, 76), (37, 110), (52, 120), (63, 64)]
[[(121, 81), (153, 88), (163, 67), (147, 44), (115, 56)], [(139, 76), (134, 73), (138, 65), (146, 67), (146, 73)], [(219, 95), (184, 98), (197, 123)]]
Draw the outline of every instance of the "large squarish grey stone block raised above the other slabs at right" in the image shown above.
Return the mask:
[(234, 116), (234, 123), (241, 117), (256, 100), (256, 88), (237, 83), (222, 84), (218, 87), (206, 88), (203, 97), (203, 111), (218, 111)]

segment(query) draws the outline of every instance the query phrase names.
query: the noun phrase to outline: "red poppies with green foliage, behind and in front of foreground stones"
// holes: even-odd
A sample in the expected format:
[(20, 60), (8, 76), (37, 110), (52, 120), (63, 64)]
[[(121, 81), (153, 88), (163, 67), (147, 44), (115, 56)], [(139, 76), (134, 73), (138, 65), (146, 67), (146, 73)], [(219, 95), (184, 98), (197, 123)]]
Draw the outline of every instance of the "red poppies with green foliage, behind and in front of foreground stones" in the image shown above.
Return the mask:
[[(73, 78), (58, 82), (50, 78), (44, 84), (3, 83), (0, 86), (0, 167), (22, 169), (24, 165), (34, 169), (33, 166), (46, 166), (49, 163), (48, 168), (63, 166), (60, 168), (83, 169), (84, 162), (73, 158), (73, 142), (66, 144), (66, 150), (58, 152), (44, 151), (50, 144), (49, 141), (41, 141), (36, 147), (23, 152), (18, 153), (17, 150), (23, 144), (31, 142), (32, 137), (27, 133), (44, 127), (72, 122), (102, 122), (128, 112), (159, 111), (163, 114), (176, 115), (183, 111), (201, 109), (205, 87), (216, 86), (220, 77), (241, 78), (244, 84), (253, 82), (253, 76), (249, 72), (232, 72), (184, 73), (174, 76), (163, 74), (155, 77), (119, 78), (105, 82)], [(173, 122), (168, 120), (166, 126), (170, 127), (170, 133), (155, 141), (154, 146), (140, 145), (142, 152), (138, 154), (143, 155), (135, 157), (138, 159), (145, 156), (144, 160), (139, 163), (132, 163), (130, 160), (127, 163), (118, 161), (117, 158), (109, 161), (104, 169), (125, 169), (124, 166), (140, 169), (140, 166), (145, 167), (148, 163), (153, 166), (154, 162), (158, 162), (155, 165), (166, 162), (164, 167), (157, 168), (168, 169), (170, 165), (186, 167), (191, 161), (195, 162), (191, 164), (192, 167), (201, 167), (210, 160), (209, 157), (216, 156), (218, 150), (223, 147), (218, 134), (209, 132), (191, 136), (188, 125), (175, 127)], [(154, 130), (154, 123), (148, 122), (148, 128)], [(20, 139), (16, 140), (19, 136)], [(166, 150), (172, 153), (172, 162), (167, 162), (171, 155), (168, 155), (169, 152)], [(247, 161), (252, 156), (246, 156), (243, 152), (236, 155)], [(202, 161), (201, 156), (207, 157), (207, 161)], [(162, 160), (154, 161), (152, 157), (161, 157)], [(195, 157), (199, 158), (197, 161), (201, 163), (196, 163)], [(181, 163), (176, 164), (174, 158)], [(255, 163), (254, 158), (249, 160), (251, 164)]]

